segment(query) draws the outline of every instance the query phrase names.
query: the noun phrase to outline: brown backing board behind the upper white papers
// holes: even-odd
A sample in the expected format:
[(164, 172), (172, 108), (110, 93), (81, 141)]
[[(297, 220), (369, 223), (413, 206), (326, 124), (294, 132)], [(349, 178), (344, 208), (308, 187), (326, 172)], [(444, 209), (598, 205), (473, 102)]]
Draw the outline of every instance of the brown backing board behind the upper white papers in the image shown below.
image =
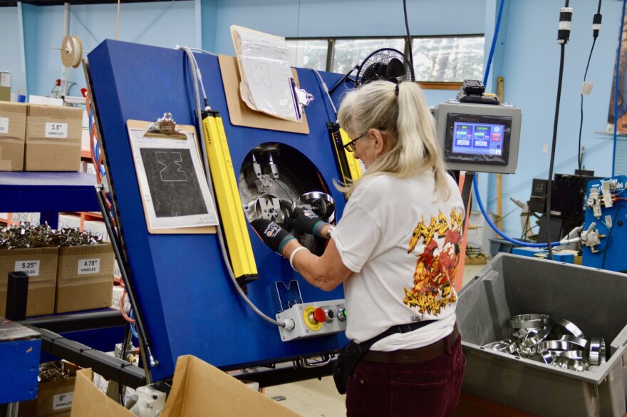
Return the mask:
[[(303, 112), (303, 118), (300, 122), (291, 122), (289, 120), (274, 118), (271, 115), (266, 115), (265, 113), (249, 108), (239, 96), (239, 82), (242, 80), (239, 78), (236, 58), (234, 56), (220, 55), (218, 61), (220, 63), (220, 72), (222, 73), (224, 93), (226, 93), (227, 96), (229, 118), (232, 124), (246, 126), (247, 128), (281, 130), (283, 132), (309, 135), (309, 123), (307, 123), (306, 111)], [(291, 72), (298, 86), (299, 78), (296, 74), (296, 70), (292, 68)]]

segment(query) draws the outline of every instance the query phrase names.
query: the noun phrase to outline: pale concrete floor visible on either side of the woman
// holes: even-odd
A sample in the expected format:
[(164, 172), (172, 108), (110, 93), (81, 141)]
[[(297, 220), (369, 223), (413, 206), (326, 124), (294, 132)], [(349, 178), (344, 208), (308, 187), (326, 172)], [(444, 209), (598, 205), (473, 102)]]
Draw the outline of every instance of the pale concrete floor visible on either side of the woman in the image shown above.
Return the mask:
[[(466, 284), (483, 267), (482, 265), (466, 265), (464, 281)], [(346, 397), (340, 395), (333, 383), (333, 377), (321, 380), (311, 379), (286, 383), (266, 388), (266, 396), (281, 399), (280, 403), (304, 417), (341, 417), (346, 416)]]

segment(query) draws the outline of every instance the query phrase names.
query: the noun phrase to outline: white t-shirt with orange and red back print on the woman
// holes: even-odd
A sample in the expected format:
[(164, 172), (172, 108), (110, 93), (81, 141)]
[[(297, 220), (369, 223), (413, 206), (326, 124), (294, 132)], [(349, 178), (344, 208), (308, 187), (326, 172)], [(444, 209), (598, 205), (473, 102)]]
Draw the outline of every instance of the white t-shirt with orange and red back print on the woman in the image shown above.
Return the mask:
[(430, 172), (366, 177), (353, 191), (331, 236), (353, 271), (344, 282), (348, 339), (361, 343), (390, 326), (423, 320), (437, 321), (388, 336), (371, 350), (416, 349), (451, 333), (464, 209), (448, 175), (447, 185), (446, 201), (437, 201)]

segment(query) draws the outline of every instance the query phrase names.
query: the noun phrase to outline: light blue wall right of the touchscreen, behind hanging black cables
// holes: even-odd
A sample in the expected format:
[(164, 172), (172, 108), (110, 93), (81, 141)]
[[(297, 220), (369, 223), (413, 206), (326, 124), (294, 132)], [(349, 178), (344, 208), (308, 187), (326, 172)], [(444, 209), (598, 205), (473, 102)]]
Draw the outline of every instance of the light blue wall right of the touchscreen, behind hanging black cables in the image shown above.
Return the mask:
[[(533, 178), (548, 177), (560, 56), (556, 37), (559, 8), (563, 4), (555, 0), (509, 2), (502, 39), (502, 71), (498, 75), (505, 78), (504, 101), (522, 108), (523, 123), (517, 173), (503, 177), (504, 213), (515, 207), (509, 197), (526, 202)], [(597, 4), (570, 4), (574, 14), (570, 41), (566, 44), (554, 173), (573, 174), (577, 168), (581, 84), (592, 46), (592, 16)], [(603, 26), (586, 78), (594, 83), (594, 88), (590, 96), (584, 96), (583, 165), (600, 176), (611, 175), (611, 138), (599, 132), (606, 128), (621, 7), (621, 1), (603, 1)], [(549, 145), (546, 154), (542, 153), (545, 143)], [(480, 180), (485, 182), (487, 177), (481, 175)], [(489, 205), (495, 207), (494, 195), (489, 197)], [(512, 217), (504, 220), (504, 228), (515, 235), (520, 232), (519, 220)]]

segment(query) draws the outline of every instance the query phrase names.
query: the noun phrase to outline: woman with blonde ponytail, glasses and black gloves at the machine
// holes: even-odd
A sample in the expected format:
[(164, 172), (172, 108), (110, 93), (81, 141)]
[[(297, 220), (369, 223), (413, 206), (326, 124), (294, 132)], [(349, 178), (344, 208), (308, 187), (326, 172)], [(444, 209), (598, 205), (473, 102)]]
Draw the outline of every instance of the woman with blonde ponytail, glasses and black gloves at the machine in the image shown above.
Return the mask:
[(338, 187), (349, 200), (336, 227), (310, 210), (293, 220), (299, 232), (330, 239), (323, 254), (275, 222), (253, 227), (310, 284), (344, 284), (353, 343), (387, 331), (348, 379), (348, 416), (447, 416), (465, 368), (453, 289), (464, 209), (435, 120), (418, 84), (375, 81), (346, 94), (338, 121), (366, 172)]

